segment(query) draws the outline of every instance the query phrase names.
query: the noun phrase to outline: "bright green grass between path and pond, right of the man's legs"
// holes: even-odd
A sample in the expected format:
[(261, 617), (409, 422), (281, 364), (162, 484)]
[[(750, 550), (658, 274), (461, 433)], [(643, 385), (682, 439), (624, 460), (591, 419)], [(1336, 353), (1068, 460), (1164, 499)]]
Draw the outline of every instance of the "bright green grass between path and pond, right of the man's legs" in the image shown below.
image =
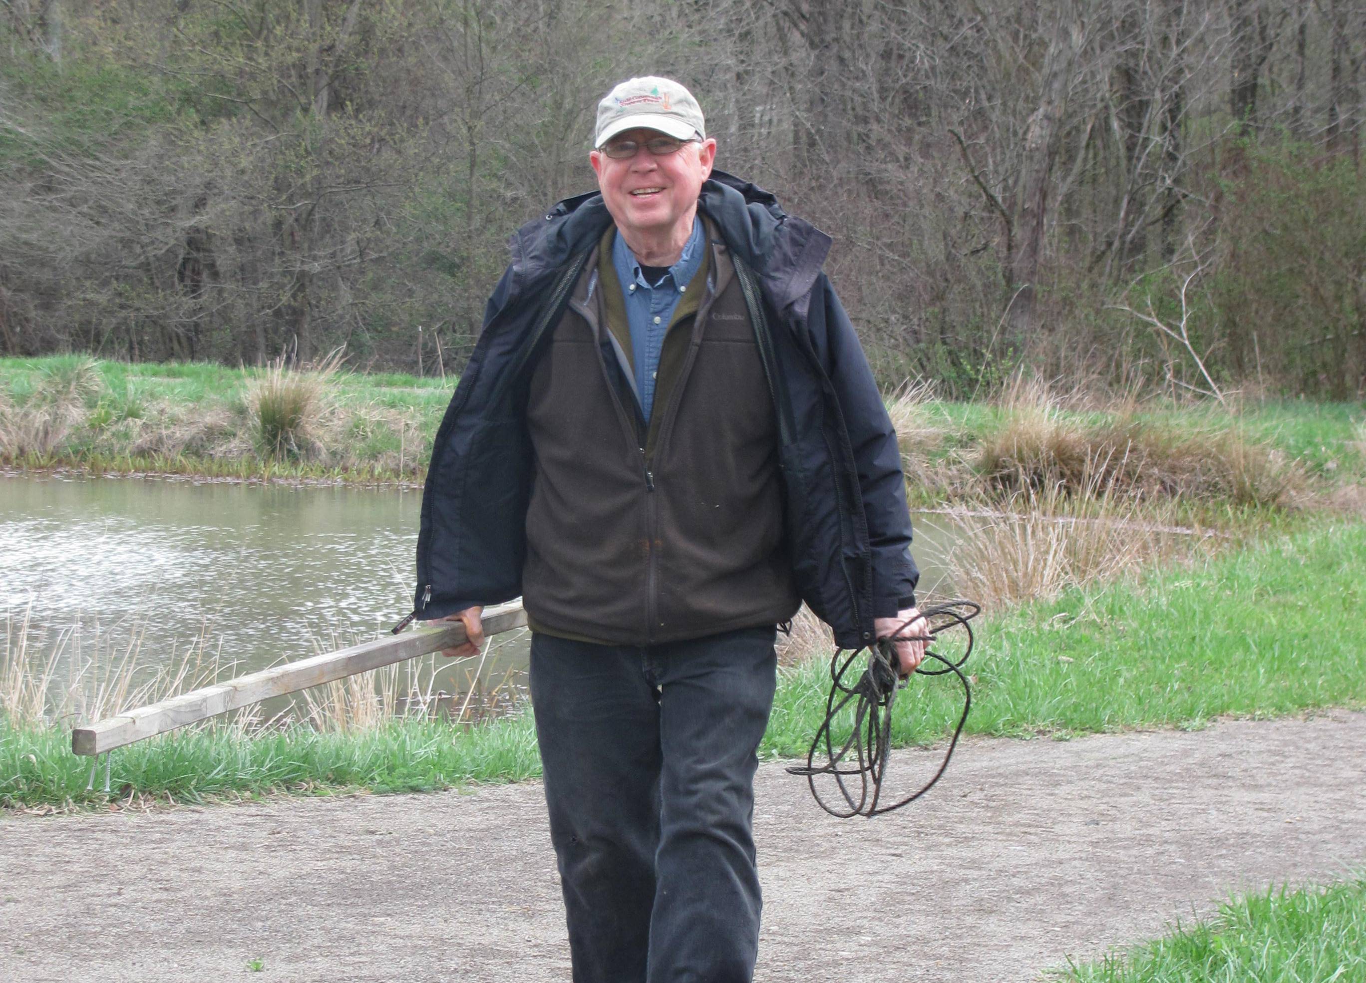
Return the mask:
[[(1202, 726), (1366, 706), (1366, 524), (1315, 522), (1193, 569), (1074, 590), (981, 624), (966, 732), (996, 736)], [(974, 623), (975, 624), (975, 623)], [(806, 752), (826, 664), (790, 670), (765, 750)], [(893, 741), (925, 744), (956, 720), (952, 676), (912, 681)]]

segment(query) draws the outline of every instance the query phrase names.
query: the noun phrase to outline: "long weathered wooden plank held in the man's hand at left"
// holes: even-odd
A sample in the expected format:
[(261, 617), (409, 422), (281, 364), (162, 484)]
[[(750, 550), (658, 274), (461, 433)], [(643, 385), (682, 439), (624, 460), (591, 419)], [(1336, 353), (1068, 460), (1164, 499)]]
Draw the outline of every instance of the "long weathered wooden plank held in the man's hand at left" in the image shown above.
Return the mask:
[[(522, 609), (520, 601), (514, 601), (485, 609), (481, 623), (485, 636), (499, 635), (526, 625), (526, 612)], [(186, 724), (260, 703), (270, 696), (283, 696), (441, 649), (452, 649), (464, 640), (464, 625), (452, 623), (443, 628), (418, 628), (404, 635), (363, 642), (350, 649), (339, 649), (272, 669), (262, 669), (227, 683), (216, 683), (158, 703), (128, 710), (90, 726), (74, 728), (71, 730), (71, 751), (78, 755), (104, 754), (124, 744), (175, 730)]]

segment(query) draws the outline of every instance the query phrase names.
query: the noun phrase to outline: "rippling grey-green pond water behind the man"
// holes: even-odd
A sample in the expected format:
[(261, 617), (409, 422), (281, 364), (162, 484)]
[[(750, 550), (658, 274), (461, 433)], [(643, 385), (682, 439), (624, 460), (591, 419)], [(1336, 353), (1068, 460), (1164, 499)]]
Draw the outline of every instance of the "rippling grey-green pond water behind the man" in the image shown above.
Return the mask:
[[(131, 653), (138, 672), (204, 640), (242, 674), (387, 632), (411, 609), (421, 492), (212, 479), (0, 475), (0, 617), (27, 617), (55, 676), (75, 640)], [(917, 517), (922, 583), (952, 532)], [(66, 639), (66, 640), (63, 640)], [(484, 664), (438, 664), (422, 688), (516, 687), (525, 632)], [(30, 658), (37, 665), (42, 658)]]

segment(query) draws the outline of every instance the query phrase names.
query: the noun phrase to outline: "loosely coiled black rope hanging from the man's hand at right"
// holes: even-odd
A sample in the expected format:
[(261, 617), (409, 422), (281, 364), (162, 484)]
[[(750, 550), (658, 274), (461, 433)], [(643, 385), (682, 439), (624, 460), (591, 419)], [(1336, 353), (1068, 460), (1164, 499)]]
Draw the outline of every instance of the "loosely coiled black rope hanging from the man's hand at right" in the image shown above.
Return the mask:
[[(806, 777), (811, 786), (811, 795), (821, 808), (841, 819), (855, 815), (881, 815), (915, 801), (940, 780), (944, 769), (948, 767), (948, 759), (953, 756), (958, 737), (963, 733), (967, 713), (973, 706), (973, 692), (962, 669), (967, 657), (973, 654), (973, 628), (967, 623), (977, 617), (981, 610), (981, 605), (973, 601), (932, 605), (921, 610), (926, 625), (923, 635), (904, 635), (903, 632), (912, 624), (911, 620), (907, 620), (889, 638), (878, 639), (873, 646), (855, 649), (847, 658), (841, 659), (844, 649), (835, 650), (831, 657), (831, 695), (825, 700), (825, 721), (816, 732), (811, 748), (806, 754), (806, 765), (788, 769), (791, 774)], [(953, 653), (956, 658), (945, 658), (929, 647), (936, 640), (947, 638), (945, 632), (952, 632), (956, 628), (966, 632), (966, 640), (960, 642), (963, 644), (962, 654)], [(882, 777), (887, 774), (887, 759), (892, 743), (892, 704), (896, 702), (896, 691), (906, 685), (906, 680), (900, 677), (900, 662), (893, 647), (896, 640), (925, 642), (925, 658), (944, 664), (943, 669), (925, 669), (925, 664), (921, 662), (921, 668), (917, 669), (918, 676), (944, 676), (949, 672), (958, 676), (959, 683), (963, 684), (963, 715), (959, 717), (958, 726), (953, 728), (953, 739), (949, 741), (948, 751), (944, 752), (944, 760), (940, 762), (934, 777), (925, 782), (918, 792), (891, 806), (880, 806)], [(846, 677), (850, 668), (865, 651), (869, 654), (867, 668), (854, 684), (847, 684)], [(851, 703), (854, 704), (854, 724), (850, 728), (848, 739), (837, 745), (832, 730), (837, 726), (840, 714)], [(851, 752), (854, 760), (848, 760)], [(818, 765), (817, 760), (822, 760), (822, 763)], [(821, 792), (816, 786), (816, 780), (820, 775), (835, 778), (847, 808), (832, 808), (821, 797)], [(855, 775), (858, 777), (856, 796), (851, 789)]]

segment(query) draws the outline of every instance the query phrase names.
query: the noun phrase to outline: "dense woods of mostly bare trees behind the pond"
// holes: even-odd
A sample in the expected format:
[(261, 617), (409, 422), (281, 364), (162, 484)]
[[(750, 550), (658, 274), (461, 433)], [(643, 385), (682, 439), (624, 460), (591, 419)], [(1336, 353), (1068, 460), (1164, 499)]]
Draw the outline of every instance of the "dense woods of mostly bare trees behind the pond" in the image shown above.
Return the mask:
[(0, 0), (0, 351), (458, 370), (660, 74), (888, 385), (1355, 397), (1363, 60), (1361, 0)]

